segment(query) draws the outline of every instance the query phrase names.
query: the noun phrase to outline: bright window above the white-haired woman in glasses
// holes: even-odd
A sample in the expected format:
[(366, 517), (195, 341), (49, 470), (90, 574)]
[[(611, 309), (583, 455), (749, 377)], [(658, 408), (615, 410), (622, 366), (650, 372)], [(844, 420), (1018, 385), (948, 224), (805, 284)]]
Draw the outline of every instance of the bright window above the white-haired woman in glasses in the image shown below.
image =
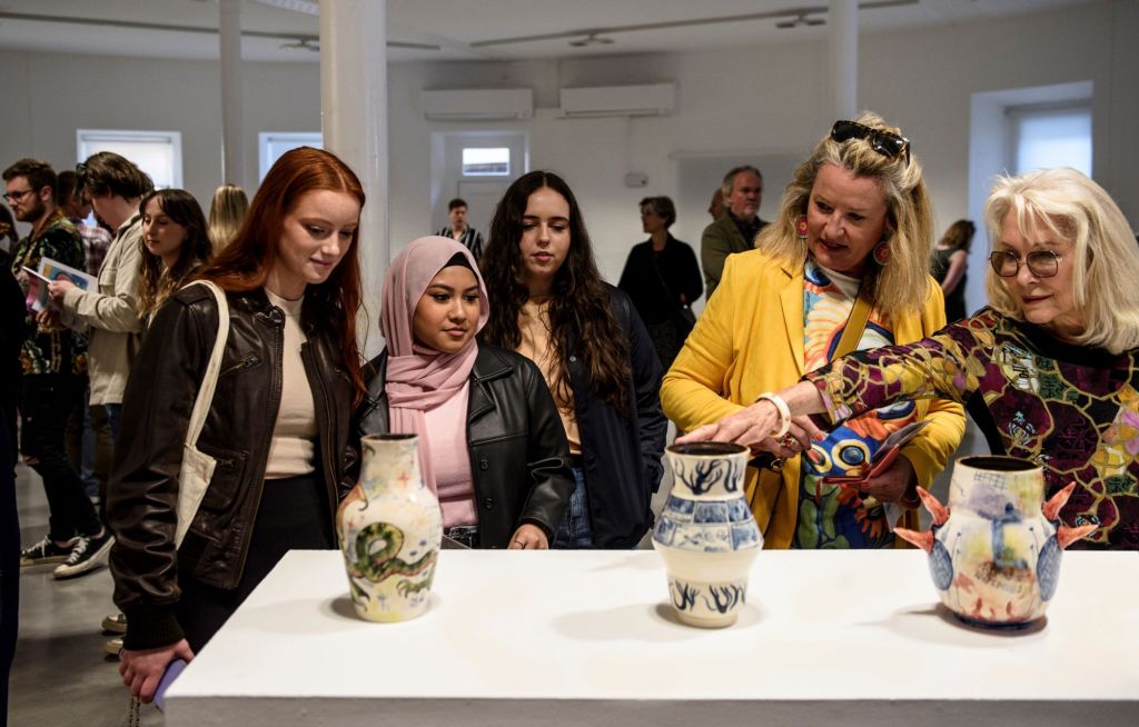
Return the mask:
[(1016, 173), (1070, 166), (1091, 176), (1091, 107), (1018, 106), (1008, 109)]

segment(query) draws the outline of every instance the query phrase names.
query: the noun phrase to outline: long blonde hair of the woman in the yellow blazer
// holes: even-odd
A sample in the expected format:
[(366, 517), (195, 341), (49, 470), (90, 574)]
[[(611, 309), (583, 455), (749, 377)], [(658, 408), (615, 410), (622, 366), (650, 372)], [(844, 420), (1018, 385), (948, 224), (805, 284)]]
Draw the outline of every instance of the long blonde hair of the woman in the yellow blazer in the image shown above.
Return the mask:
[[(870, 111), (855, 119), (863, 126), (901, 135)], [(814, 147), (811, 157), (795, 170), (784, 191), (779, 216), (756, 237), (755, 247), (790, 264), (806, 262), (806, 245), (798, 238), (796, 224), (806, 214), (814, 179), (823, 164), (834, 164), (855, 176), (874, 179), (886, 197), (885, 241), (890, 262), (878, 265), (870, 257), (862, 290), (876, 308), (890, 314), (918, 312), (929, 295), (929, 251), (933, 246), (933, 207), (921, 179), (921, 165), (912, 151), (888, 157), (863, 139), (837, 142), (829, 134)]]

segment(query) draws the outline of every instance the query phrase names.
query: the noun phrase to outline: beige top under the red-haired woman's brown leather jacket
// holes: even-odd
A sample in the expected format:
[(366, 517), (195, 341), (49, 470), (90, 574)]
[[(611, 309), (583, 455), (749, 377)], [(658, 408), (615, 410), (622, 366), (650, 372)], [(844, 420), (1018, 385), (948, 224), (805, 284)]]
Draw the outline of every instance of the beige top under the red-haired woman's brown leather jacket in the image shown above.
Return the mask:
[(286, 300), (265, 289), (269, 303), (285, 312), (285, 347), (281, 352), (281, 406), (277, 411), (273, 440), (269, 446), (265, 479), (309, 474), (317, 451), (317, 410), (304, 373), (301, 346), (309, 339), (301, 329), (300, 300)]

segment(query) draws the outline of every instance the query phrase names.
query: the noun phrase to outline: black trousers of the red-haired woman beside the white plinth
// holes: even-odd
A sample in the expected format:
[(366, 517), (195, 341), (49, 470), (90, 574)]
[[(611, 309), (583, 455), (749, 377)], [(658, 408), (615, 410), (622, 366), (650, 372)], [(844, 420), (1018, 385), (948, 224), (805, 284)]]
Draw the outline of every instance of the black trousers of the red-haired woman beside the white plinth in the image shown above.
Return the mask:
[(264, 487), (237, 588), (214, 588), (192, 576), (179, 576), (182, 597), (178, 602), (178, 622), (194, 653), (218, 633), (285, 553), (337, 547), (325, 485), (319, 476), (265, 480)]

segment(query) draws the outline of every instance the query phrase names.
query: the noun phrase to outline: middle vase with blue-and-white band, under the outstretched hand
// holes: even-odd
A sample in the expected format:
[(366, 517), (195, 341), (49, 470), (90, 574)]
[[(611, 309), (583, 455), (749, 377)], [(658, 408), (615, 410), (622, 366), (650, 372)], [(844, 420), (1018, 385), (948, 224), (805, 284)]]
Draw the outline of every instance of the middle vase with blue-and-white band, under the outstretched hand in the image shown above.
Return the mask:
[(690, 626), (731, 626), (746, 603), (747, 576), (763, 536), (744, 499), (748, 449), (702, 441), (665, 451), (672, 491), (653, 530), (669, 600)]

